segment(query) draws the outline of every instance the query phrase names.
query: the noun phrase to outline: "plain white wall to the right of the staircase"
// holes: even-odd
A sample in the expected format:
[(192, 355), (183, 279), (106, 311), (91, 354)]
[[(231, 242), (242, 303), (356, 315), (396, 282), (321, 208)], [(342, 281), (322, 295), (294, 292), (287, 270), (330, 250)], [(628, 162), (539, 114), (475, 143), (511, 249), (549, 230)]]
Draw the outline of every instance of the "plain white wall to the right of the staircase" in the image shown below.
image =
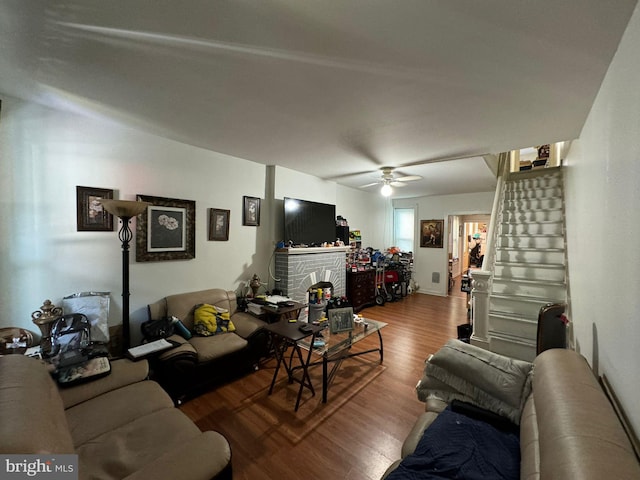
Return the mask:
[(571, 320), (640, 433), (640, 7), (566, 159)]

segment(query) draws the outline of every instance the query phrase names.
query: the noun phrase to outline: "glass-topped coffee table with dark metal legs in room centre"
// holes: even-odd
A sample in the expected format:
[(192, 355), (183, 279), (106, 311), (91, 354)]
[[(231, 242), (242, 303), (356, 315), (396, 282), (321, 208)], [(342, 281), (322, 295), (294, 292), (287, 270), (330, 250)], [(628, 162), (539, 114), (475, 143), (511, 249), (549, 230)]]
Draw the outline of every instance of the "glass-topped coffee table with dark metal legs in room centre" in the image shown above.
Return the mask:
[[(311, 337), (306, 337), (298, 341), (298, 345), (302, 349), (307, 350), (309, 354), (313, 353), (315, 356), (321, 357), (319, 360), (308, 362), (305, 370), (315, 365), (322, 365), (322, 403), (327, 403), (329, 385), (333, 381), (343, 360), (378, 352), (380, 354), (380, 363), (382, 363), (384, 360), (384, 349), (381, 330), (386, 326), (387, 324), (385, 322), (361, 318), (358, 322), (354, 323), (353, 330), (330, 333), (329, 327), (327, 326), (320, 332), (314, 333)], [(378, 335), (378, 347), (357, 352), (352, 351), (352, 347), (356, 343), (373, 334)], [(316, 340), (323, 340), (324, 345), (315, 346), (310, 349), (310, 345), (314, 345)], [(329, 370), (330, 363), (332, 365)]]

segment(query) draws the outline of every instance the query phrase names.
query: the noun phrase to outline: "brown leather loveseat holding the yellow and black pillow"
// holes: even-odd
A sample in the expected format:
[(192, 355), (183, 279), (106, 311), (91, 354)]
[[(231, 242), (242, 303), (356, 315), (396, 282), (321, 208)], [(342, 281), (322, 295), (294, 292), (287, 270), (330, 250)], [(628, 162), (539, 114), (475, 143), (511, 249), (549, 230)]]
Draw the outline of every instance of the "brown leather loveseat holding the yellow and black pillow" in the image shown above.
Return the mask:
[(152, 360), (153, 378), (178, 402), (215, 383), (253, 371), (268, 353), (265, 322), (239, 311), (232, 291), (214, 288), (167, 296), (148, 305), (149, 319), (174, 316), (193, 331), (195, 307), (205, 303), (228, 310), (236, 330), (209, 337), (193, 335), (190, 339), (178, 334), (169, 337), (180, 345)]

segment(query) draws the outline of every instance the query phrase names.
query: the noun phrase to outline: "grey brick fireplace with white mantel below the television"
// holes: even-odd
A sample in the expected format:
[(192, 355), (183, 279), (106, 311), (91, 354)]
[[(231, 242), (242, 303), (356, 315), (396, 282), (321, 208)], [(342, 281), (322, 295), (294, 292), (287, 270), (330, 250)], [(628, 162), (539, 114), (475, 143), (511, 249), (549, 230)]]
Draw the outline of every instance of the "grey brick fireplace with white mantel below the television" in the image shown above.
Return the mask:
[(275, 287), (300, 303), (307, 303), (307, 290), (319, 282), (331, 282), (334, 296), (346, 295), (347, 251), (348, 247), (278, 250)]

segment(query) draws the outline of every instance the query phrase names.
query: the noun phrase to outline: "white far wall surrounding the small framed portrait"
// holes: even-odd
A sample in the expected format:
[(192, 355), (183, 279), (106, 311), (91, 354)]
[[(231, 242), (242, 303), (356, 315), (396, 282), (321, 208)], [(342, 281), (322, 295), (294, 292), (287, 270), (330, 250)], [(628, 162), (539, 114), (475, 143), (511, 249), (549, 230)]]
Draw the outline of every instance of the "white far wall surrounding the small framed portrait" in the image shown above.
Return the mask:
[[(449, 252), (447, 238), (449, 215), (491, 214), (494, 192), (465, 195), (437, 195), (394, 200), (396, 208), (415, 208), (416, 249), (414, 252), (414, 280), (420, 286), (419, 293), (447, 295), (449, 277)], [(444, 220), (443, 248), (420, 247), (420, 221)], [(433, 273), (440, 275), (438, 283), (432, 282)]]

